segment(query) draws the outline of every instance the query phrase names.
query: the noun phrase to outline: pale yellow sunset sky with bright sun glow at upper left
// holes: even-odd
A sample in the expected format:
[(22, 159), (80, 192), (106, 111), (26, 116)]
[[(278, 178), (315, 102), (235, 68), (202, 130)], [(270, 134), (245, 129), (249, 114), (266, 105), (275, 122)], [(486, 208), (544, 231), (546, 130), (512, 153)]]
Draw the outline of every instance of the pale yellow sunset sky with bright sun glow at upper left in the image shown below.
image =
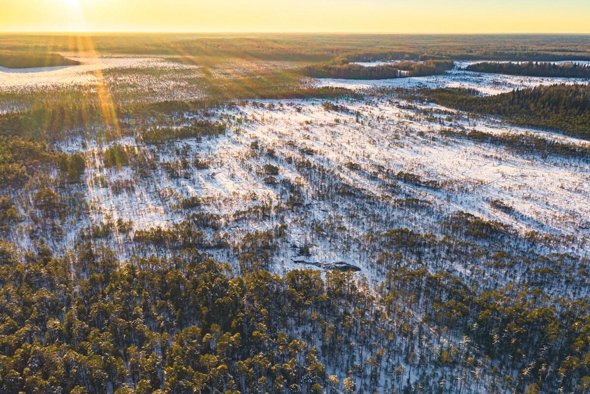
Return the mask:
[(0, 0), (0, 31), (590, 33), (590, 0)]

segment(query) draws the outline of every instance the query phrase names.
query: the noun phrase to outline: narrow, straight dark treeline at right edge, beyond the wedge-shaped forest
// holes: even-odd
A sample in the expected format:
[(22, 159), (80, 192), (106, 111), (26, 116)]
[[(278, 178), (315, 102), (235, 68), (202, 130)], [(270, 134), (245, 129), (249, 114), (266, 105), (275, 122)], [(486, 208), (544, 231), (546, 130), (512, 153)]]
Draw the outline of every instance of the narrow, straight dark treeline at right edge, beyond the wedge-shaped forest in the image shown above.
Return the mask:
[(528, 77), (590, 78), (590, 66), (577, 63), (555, 64), (549, 62), (497, 63), (483, 62), (467, 66), (477, 73), (525, 75)]

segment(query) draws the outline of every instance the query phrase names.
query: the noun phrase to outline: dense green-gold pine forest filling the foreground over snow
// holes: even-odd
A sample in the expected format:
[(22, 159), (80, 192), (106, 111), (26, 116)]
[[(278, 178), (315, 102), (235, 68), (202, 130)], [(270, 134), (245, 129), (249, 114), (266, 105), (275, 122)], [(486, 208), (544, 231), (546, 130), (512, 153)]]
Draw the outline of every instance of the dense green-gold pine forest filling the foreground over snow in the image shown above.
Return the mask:
[[(587, 301), (540, 300), (516, 284), (478, 291), (402, 269), (375, 297), (350, 273), (242, 277), (195, 249), (120, 265), (90, 245), (54, 258), (39, 244), (21, 260), (4, 241), (0, 271), (6, 393), (455, 393), (455, 376), (479, 385), (487, 374), (527, 393), (590, 383)], [(423, 317), (412, 320), (404, 311), (417, 305)], [(447, 330), (431, 336), (429, 324)], [(435, 340), (450, 333), (481, 353)], [(473, 367), (482, 375), (461, 375)]]

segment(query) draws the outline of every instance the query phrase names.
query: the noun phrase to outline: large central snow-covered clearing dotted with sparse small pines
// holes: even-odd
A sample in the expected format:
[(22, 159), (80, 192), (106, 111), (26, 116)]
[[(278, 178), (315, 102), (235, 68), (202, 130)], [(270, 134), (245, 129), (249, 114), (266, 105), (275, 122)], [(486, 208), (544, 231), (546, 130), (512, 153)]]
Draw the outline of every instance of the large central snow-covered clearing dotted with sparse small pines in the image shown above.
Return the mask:
[[(64, 221), (65, 237), (54, 238), (53, 247), (65, 251), (80, 241), (81, 229), (122, 219), (132, 222), (132, 232), (114, 231), (112, 237), (100, 240), (116, 248), (122, 259), (142, 251), (166, 254), (169, 251), (138, 248), (134, 231), (169, 228), (187, 214), (201, 212), (219, 218), (219, 228), (205, 229), (207, 236), (230, 242), (230, 248), (209, 251), (220, 261), (237, 264), (231, 250), (244, 235), (284, 224), (286, 239), (273, 255), (273, 271), (349, 264), (376, 283), (381, 271), (375, 265), (375, 247), (366, 241), (368, 234), (408, 228), (442, 239), (448, 235), (445, 218), (462, 211), (509, 225), (514, 248), (530, 247), (525, 238), (537, 232), (541, 239), (548, 235), (551, 240), (534, 248), (539, 253), (590, 255), (588, 160), (515, 153), (439, 132), (477, 129), (535, 133), (578, 145), (588, 142), (389, 99), (333, 103), (344, 107), (337, 112), (322, 104), (320, 100), (271, 100), (221, 109), (215, 117), (228, 124), (228, 132), (201, 141), (153, 146), (133, 137), (120, 140), (130, 151), (154, 160), (157, 169), (146, 177), (138, 176), (133, 166), (104, 168), (102, 152), (107, 145), (89, 143), (86, 183), (68, 186), (83, 196), (89, 215)], [(432, 113), (422, 113), (425, 109)], [(449, 114), (454, 114), (453, 120), (448, 120)], [(60, 149), (74, 152), (80, 149), (80, 141), (64, 143)], [(186, 168), (181, 165), (183, 159), (189, 163)], [(195, 159), (209, 162), (209, 168), (195, 168)], [(164, 169), (171, 163), (179, 169), (176, 176)], [(278, 168), (270, 180), (264, 173), (266, 165)], [(399, 172), (438, 186), (404, 182), (396, 177)], [(114, 187), (123, 183), (132, 186), (123, 191)], [(182, 199), (193, 196), (201, 199), (201, 206), (179, 206)], [(287, 208), (297, 196), (303, 205)], [(494, 208), (492, 201), (501, 201), (513, 211)], [(31, 245), (37, 234), (31, 226), (23, 222), (15, 228), (14, 241)], [(302, 255), (300, 248), (306, 245), (309, 254)], [(478, 264), (426, 262), (433, 271), (444, 268), (461, 276), (473, 275)], [(513, 269), (507, 278), (517, 275), (520, 271)]]

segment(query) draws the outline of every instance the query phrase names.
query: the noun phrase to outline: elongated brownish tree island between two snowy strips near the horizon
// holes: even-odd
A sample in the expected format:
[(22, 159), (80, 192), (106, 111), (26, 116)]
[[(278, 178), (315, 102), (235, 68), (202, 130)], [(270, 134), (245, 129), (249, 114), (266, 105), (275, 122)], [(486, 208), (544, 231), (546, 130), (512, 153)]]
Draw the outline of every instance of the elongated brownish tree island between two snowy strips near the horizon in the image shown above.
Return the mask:
[(352, 80), (379, 80), (401, 77), (420, 77), (442, 74), (453, 68), (452, 60), (427, 60), (422, 63), (403, 61), (366, 67), (359, 64), (309, 65), (303, 74), (312, 78), (339, 78)]

